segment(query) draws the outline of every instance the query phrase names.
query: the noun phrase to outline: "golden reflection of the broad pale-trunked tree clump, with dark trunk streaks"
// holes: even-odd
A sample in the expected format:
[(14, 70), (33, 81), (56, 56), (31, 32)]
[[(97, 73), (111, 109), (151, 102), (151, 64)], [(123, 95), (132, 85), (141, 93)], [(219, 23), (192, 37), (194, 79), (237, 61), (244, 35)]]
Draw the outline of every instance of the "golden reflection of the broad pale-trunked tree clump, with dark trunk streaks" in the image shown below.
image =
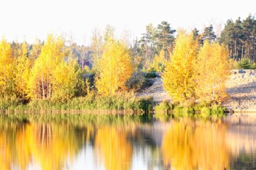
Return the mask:
[(67, 157), (72, 159), (79, 149), (74, 130), (65, 125), (32, 125), (27, 130), (33, 155), (42, 169), (61, 169)]

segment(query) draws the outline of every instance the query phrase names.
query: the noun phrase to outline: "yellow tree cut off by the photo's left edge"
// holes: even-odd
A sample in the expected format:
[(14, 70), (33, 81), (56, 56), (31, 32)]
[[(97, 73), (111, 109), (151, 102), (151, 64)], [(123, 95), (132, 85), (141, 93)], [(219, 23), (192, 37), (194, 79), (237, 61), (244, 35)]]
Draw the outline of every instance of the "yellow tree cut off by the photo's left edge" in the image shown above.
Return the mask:
[(2, 39), (0, 42), (0, 97), (13, 95), (15, 92), (13, 64), (11, 44)]

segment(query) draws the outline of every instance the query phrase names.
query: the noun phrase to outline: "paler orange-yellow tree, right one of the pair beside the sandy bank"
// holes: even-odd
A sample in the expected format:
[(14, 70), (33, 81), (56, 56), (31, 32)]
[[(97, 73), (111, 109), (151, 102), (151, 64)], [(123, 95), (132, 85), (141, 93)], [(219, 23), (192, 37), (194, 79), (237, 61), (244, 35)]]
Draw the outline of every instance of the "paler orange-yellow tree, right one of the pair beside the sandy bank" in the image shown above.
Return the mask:
[(207, 103), (223, 101), (226, 97), (225, 82), (230, 74), (228, 50), (218, 43), (211, 44), (206, 40), (199, 50), (195, 69), (195, 91), (199, 100)]

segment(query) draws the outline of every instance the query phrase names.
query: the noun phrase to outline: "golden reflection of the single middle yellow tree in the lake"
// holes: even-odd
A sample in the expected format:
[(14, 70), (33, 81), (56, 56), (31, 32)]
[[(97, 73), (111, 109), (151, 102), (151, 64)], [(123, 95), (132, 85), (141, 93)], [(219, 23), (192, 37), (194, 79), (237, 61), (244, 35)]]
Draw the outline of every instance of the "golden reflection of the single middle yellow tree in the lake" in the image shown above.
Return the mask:
[(96, 134), (96, 149), (104, 159), (106, 169), (129, 169), (132, 148), (124, 130), (114, 127), (100, 128)]

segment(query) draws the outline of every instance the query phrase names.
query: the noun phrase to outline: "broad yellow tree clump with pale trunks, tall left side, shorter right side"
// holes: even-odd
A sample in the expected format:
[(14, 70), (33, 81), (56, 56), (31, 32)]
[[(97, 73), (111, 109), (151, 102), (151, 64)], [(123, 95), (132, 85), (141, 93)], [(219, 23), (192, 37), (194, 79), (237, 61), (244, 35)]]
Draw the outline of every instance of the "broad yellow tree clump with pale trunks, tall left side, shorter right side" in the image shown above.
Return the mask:
[(70, 99), (75, 95), (78, 82), (77, 61), (67, 58), (63, 38), (49, 35), (32, 68), (30, 96), (39, 99)]

